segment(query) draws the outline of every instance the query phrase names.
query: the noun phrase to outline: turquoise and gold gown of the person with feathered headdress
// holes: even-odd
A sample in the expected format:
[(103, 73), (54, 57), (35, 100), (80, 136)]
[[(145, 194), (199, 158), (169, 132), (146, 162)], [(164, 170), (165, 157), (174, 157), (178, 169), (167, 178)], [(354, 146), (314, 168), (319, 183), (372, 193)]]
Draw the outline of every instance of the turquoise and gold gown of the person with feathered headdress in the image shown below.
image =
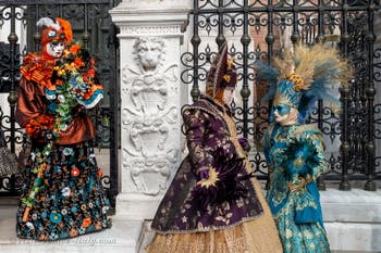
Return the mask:
[[(321, 131), (312, 125), (271, 124), (263, 139), (271, 170), (267, 201), (275, 219), (285, 253), (327, 253), (316, 179), (327, 168)], [(307, 178), (306, 187), (291, 192), (288, 184)]]

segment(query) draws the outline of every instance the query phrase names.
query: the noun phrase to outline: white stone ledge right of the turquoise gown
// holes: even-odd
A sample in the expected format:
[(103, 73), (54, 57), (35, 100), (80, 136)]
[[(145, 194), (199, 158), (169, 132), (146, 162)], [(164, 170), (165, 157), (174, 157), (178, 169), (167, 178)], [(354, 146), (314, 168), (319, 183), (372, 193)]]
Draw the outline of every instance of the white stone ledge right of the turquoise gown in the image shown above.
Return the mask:
[(381, 252), (381, 190), (321, 191), (331, 249), (336, 252)]

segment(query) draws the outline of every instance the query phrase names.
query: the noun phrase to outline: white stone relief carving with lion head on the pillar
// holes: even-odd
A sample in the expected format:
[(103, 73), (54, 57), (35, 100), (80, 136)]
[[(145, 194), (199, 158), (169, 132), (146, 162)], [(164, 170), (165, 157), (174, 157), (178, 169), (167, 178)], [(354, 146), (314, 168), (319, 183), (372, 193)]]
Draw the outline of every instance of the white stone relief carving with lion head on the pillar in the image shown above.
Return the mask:
[[(176, 130), (179, 109), (177, 65), (165, 65), (164, 41), (148, 37), (135, 40), (135, 64), (122, 68), (123, 167), (133, 191), (159, 194), (167, 188), (180, 147), (170, 136)], [(177, 74), (179, 75), (179, 74)]]

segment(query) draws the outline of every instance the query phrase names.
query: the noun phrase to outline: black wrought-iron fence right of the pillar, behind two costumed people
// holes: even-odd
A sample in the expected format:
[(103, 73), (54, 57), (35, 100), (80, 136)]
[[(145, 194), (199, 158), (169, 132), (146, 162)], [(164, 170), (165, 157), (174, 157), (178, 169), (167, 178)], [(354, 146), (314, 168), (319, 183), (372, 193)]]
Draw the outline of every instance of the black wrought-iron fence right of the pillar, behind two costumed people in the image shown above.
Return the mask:
[[(339, 189), (349, 190), (352, 181), (365, 181), (364, 189), (376, 190), (381, 179), (381, 104), (376, 86), (381, 84), (381, 48), (374, 46), (374, 0), (194, 0), (193, 52), (182, 55), (182, 80), (193, 84), (197, 100), (211, 59), (225, 39), (239, 72), (239, 101), (232, 107), (239, 134), (256, 143), (250, 161), (258, 178), (267, 179), (267, 165), (260, 139), (268, 125), (269, 104), (260, 102), (266, 85), (256, 81), (256, 61), (271, 62), (302, 40), (340, 47), (355, 69), (351, 88), (340, 90), (343, 113), (333, 115), (322, 101), (309, 119), (324, 134), (330, 172), (319, 179), (337, 180)], [(337, 93), (339, 96), (339, 93)], [(379, 99), (381, 100), (381, 99)], [(380, 142), (381, 143), (381, 142)]]

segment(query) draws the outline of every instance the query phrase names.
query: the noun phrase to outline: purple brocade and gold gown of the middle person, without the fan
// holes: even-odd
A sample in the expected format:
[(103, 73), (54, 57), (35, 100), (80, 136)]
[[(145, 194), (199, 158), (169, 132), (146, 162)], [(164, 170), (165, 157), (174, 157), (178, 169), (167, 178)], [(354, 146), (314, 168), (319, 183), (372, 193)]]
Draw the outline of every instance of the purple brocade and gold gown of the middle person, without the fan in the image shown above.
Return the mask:
[(255, 177), (243, 181), (247, 194), (200, 208), (192, 194), (200, 169), (216, 154), (244, 157), (251, 172), (226, 106), (207, 96), (182, 111), (189, 154), (183, 160), (152, 222), (157, 232), (147, 252), (282, 252), (268, 204)]

